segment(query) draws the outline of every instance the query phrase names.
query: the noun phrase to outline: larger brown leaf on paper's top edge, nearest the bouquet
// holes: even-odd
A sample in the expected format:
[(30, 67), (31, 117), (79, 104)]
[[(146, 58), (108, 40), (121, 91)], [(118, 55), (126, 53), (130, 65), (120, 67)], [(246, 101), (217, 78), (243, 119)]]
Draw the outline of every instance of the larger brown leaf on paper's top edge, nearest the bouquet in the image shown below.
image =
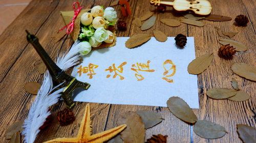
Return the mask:
[(136, 34), (130, 37), (126, 42), (125, 42), (125, 47), (127, 48), (134, 48), (137, 47), (148, 40), (151, 39), (151, 35), (148, 34)]

